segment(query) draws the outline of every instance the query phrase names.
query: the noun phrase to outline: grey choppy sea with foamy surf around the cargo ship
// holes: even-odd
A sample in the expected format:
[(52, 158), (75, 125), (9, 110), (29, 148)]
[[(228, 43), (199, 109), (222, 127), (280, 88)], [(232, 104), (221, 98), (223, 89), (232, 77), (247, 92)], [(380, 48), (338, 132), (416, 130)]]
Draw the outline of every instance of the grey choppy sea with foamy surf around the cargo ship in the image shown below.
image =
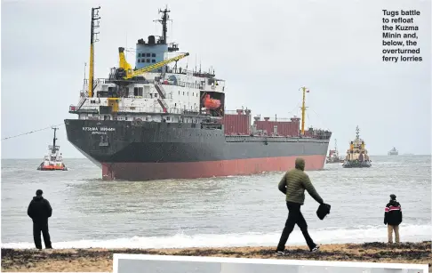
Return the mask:
[[(386, 242), (384, 207), (402, 205), (401, 240), (430, 240), (431, 157), (371, 157), (372, 167), (324, 165), (307, 172), (324, 202), (306, 193), (301, 211), (317, 244)], [(282, 172), (196, 180), (102, 181), (87, 159), (65, 159), (68, 172), (36, 171), (40, 160), (2, 159), (2, 247), (34, 248), (27, 208), (36, 189), (52, 205), (54, 248), (275, 246), (287, 208)], [(287, 245), (305, 245), (298, 227)]]

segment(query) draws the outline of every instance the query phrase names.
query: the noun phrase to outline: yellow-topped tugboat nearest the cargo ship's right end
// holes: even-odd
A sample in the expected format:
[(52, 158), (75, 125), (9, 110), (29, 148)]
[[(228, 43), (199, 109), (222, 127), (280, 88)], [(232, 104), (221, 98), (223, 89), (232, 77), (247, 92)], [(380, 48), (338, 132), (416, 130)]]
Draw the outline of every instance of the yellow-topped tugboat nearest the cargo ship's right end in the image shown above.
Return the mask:
[(356, 140), (349, 143), (347, 157), (343, 163), (344, 168), (369, 168), (372, 166), (364, 140), (360, 139), (360, 129), (356, 127)]

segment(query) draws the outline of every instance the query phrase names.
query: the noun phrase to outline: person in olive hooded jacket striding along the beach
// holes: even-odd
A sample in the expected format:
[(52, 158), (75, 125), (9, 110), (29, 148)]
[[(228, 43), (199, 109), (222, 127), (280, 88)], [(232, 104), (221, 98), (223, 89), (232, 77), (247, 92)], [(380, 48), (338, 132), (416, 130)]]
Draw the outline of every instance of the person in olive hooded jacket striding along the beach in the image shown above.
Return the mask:
[(314, 185), (312, 185), (308, 174), (304, 173), (304, 170), (305, 160), (300, 157), (296, 158), (295, 168), (286, 172), (278, 185), (279, 190), (286, 195), (288, 219), (285, 222), (284, 230), (282, 231), (279, 244), (276, 248), (277, 255), (284, 254), (285, 244), (288, 241), (288, 237), (290, 237), (295, 224), (299, 226), (301, 233), (303, 233), (303, 237), (306, 239), (309, 250), (311, 252), (316, 252), (319, 249), (319, 246), (314, 243), (308, 234), (308, 224), (306, 223), (303, 214), (300, 212), (300, 206), (304, 204), (305, 189), (308, 190), (308, 194), (319, 204), (324, 204), (324, 201), (316, 192)]

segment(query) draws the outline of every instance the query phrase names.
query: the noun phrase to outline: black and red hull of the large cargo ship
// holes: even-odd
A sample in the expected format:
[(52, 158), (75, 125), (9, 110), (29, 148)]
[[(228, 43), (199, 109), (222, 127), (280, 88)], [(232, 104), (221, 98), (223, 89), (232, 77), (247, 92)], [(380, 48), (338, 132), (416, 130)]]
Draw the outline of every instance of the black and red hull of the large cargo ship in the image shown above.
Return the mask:
[(104, 179), (186, 179), (324, 167), (329, 140), (226, 136), (201, 124), (65, 120), (68, 141)]

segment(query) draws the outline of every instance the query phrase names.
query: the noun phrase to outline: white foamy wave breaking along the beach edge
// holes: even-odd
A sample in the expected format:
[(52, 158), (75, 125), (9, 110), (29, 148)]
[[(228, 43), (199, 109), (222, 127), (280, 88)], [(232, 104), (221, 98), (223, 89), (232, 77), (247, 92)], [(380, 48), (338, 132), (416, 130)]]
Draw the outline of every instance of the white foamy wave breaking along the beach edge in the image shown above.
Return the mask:
[[(281, 230), (282, 231), (282, 230)], [(318, 244), (343, 244), (364, 242), (386, 242), (387, 227), (367, 227), (365, 229), (318, 229), (309, 231)], [(420, 242), (432, 237), (431, 225), (400, 226), (401, 241)], [(260, 234), (203, 234), (188, 236), (176, 234), (172, 237), (129, 237), (108, 240), (79, 240), (53, 242), (52, 247), (62, 248), (184, 248), (184, 247), (229, 247), (229, 246), (275, 246), (280, 232)], [(298, 227), (294, 229), (288, 245), (305, 245)], [(6, 243), (2, 248), (28, 249), (33, 243)]]

